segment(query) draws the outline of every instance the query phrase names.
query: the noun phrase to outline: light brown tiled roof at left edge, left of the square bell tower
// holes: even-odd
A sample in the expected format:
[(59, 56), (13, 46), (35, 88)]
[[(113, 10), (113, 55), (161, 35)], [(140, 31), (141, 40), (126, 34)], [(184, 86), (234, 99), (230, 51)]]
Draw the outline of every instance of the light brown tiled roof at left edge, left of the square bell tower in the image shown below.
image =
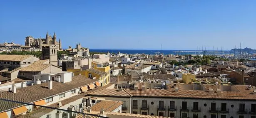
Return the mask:
[(32, 55), (7, 55), (7, 54), (0, 54), (0, 61), (23, 61)]

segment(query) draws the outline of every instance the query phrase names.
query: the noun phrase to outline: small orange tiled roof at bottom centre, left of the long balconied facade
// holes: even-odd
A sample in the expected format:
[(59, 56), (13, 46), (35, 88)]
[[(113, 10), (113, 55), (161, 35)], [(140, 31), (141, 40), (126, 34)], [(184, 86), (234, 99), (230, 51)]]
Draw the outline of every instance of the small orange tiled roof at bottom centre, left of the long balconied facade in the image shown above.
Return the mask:
[(100, 111), (101, 108), (104, 108), (104, 111), (112, 112), (122, 104), (123, 102), (121, 101), (100, 101), (99, 103), (92, 106), (92, 111)]

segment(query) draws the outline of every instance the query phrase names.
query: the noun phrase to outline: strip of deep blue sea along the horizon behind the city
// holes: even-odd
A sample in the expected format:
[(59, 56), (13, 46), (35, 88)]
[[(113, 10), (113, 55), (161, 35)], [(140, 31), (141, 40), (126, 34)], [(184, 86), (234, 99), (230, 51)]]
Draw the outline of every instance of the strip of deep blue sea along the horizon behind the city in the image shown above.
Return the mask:
[[(181, 50), (133, 50), (133, 49), (90, 49), (90, 52), (104, 52), (104, 53), (124, 53), (124, 54), (159, 54), (162, 52), (163, 54), (199, 54), (196, 50), (182, 50), (183, 52), (180, 52)], [(203, 54), (203, 52), (201, 52)], [(206, 54), (229, 54), (229, 51), (206, 51)]]

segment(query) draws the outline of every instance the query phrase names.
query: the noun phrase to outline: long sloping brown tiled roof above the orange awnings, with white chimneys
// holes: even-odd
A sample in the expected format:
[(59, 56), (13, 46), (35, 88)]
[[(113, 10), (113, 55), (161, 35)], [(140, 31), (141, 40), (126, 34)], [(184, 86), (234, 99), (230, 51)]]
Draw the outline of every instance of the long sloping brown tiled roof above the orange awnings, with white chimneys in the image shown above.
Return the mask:
[[(0, 98), (10, 99), (14, 101), (21, 101), (32, 103), (38, 100), (45, 99), (72, 89), (77, 89), (91, 83), (99, 81), (98, 79), (89, 79), (86, 76), (79, 75), (72, 77), (71, 82), (61, 83), (52, 81), (52, 90), (48, 89), (48, 83), (27, 86), (25, 88), (17, 89), (17, 93), (5, 91), (0, 93)], [(21, 106), (20, 103), (12, 103), (7, 101), (0, 101), (0, 112)]]

